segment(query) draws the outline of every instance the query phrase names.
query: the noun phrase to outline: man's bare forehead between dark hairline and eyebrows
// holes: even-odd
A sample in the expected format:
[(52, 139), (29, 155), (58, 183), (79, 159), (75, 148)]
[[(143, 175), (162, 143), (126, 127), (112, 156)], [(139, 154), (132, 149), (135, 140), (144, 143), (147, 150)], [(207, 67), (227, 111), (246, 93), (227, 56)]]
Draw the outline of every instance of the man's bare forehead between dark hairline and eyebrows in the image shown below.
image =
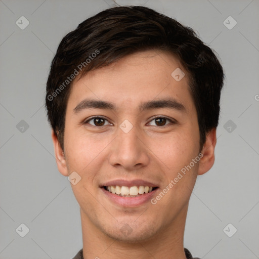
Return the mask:
[(187, 112), (193, 109), (186, 71), (176, 57), (161, 51), (128, 55), (106, 67), (89, 71), (71, 87), (68, 105), (78, 105), (84, 98), (92, 97), (116, 103), (118, 109), (128, 104), (139, 108), (144, 100), (172, 97), (182, 103)]

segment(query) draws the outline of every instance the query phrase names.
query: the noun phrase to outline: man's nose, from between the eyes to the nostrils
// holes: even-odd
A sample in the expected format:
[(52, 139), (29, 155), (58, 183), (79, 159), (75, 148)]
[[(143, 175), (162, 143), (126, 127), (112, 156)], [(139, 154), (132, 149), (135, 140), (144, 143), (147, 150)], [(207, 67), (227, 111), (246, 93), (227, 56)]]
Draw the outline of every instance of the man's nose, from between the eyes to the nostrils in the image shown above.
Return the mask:
[(125, 133), (118, 128), (109, 157), (112, 166), (122, 166), (125, 170), (136, 170), (149, 163), (148, 147), (140, 130), (133, 126)]

